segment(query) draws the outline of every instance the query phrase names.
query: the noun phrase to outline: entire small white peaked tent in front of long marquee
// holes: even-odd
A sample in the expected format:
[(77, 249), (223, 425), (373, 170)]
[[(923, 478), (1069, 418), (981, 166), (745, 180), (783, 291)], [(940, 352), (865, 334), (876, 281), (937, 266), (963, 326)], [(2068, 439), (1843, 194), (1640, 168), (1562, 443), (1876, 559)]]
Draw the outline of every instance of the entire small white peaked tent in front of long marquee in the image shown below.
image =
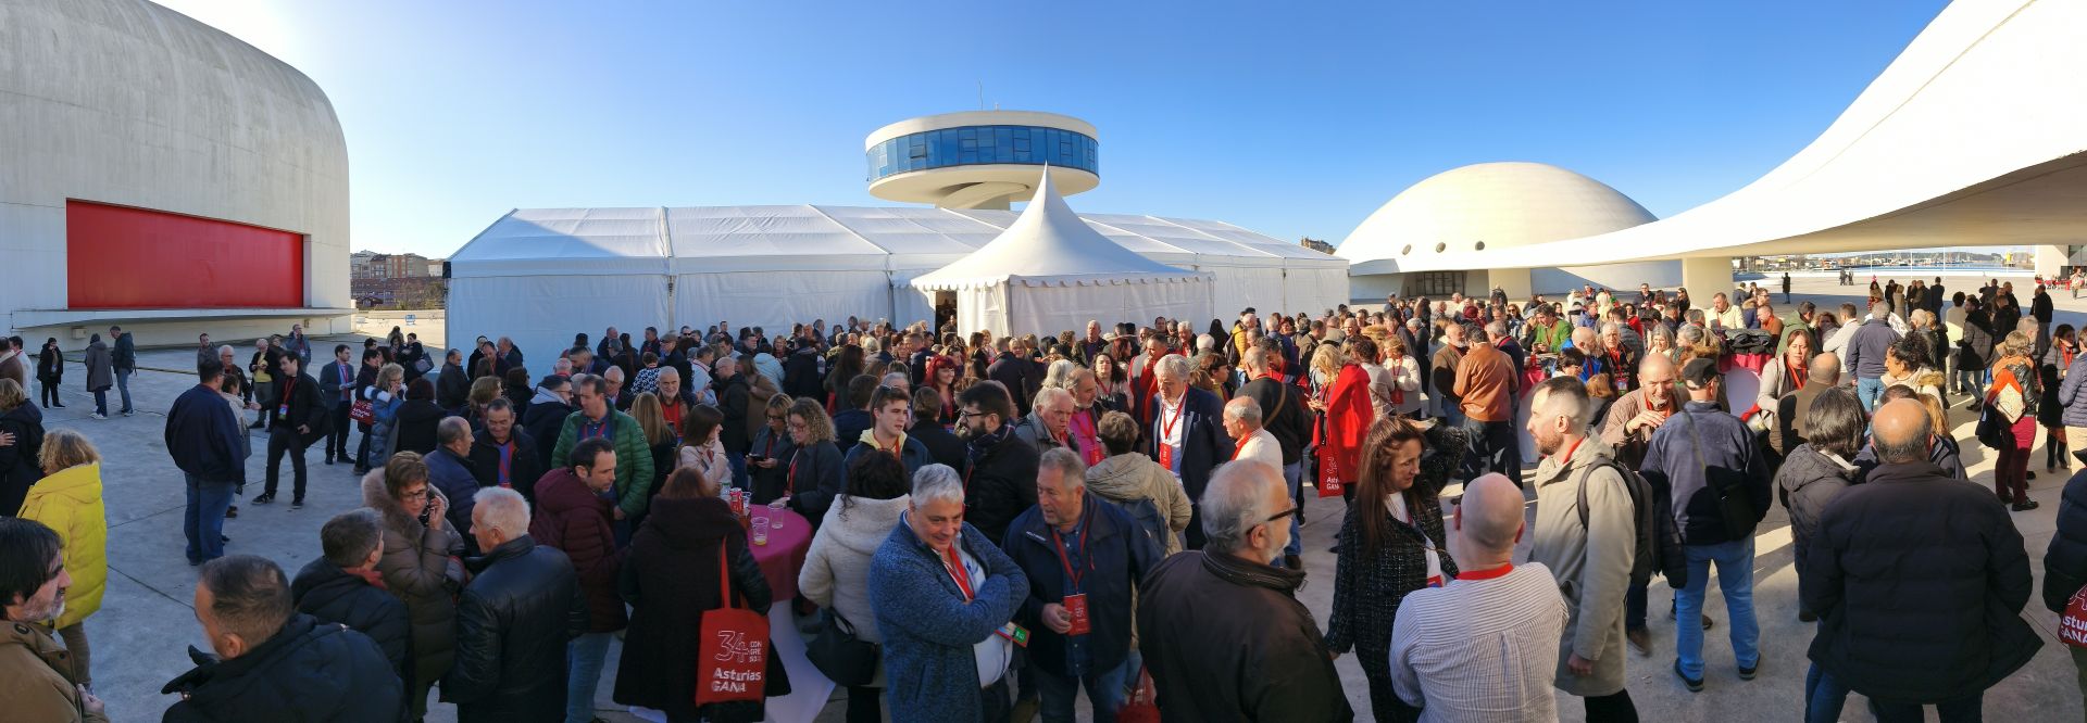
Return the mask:
[(1137, 308), (1140, 317), (1210, 317), (1213, 273), (1183, 271), (1110, 242), (1073, 215), (1050, 173), (1029, 208), (991, 244), (912, 279), (925, 294), (956, 296), (956, 327), (1058, 333)]

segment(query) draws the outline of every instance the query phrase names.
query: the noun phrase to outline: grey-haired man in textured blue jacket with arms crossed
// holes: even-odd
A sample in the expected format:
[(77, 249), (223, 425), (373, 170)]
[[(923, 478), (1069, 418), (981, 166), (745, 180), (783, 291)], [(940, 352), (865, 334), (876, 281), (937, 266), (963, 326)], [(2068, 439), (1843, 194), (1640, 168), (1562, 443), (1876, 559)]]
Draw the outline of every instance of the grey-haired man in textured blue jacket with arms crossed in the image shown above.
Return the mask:
[(1029, 577), (964, 523), (964, 479), (914, 475), (912, 500), (870, 558), (870, 606), (885, 635), (893, 721), (973, 723), (1008, 715), (1008, 660), (1029, 631), (1010, 621)]

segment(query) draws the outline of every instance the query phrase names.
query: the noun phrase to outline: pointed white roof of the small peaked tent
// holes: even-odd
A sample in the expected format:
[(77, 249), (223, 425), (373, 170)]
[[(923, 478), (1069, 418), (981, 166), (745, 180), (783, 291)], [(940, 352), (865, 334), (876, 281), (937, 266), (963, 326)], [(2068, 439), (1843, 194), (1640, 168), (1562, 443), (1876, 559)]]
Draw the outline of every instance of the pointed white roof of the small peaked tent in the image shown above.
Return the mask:
[(1208, 279), (1150, 260), (1081, 221), (1050, 181), (998, 238), (956, 263), (912, 279), (920, 290), (1021, 285), (1114, 285)]

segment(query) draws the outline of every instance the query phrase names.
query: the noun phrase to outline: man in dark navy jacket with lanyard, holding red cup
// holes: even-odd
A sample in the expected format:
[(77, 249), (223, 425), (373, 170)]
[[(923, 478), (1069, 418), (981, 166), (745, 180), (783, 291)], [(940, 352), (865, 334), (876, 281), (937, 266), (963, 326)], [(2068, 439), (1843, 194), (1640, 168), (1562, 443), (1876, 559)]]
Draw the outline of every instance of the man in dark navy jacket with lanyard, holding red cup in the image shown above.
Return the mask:
[(1114, 504), (1087, 496), (1087, 465), (1066, 448), (1037, 463), (1037, 506), (1008, 525), (1002, 546), (1029, 575), (1016, 621), (1033, 631), (1031, 681), (1046, 721), (1071, 721), (1079, 688), (1096, 721), (1123, 706), (1131, 665), (1131, 590), (1160, 550)]

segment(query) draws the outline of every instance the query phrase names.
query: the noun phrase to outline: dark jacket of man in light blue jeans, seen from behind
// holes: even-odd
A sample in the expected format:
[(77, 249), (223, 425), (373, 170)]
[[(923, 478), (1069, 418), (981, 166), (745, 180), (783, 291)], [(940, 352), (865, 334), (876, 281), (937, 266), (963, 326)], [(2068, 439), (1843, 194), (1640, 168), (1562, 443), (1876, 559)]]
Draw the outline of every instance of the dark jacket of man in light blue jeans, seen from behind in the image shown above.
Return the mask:
[[(1703, 465), (1697, 465), (1697, 450), (1703, 454)], [(1768, 463), (1753, 444), (1753, 429), (1720, 410), (1718, 402), (1688, 400), (1680, 413), (1668, 417), (1659, 431), (1653, 431), (1638, 473), (1657, 475), (1668, 481), (1668, 490), (1674, 490), (1674, 527), (1682, 531), (1682, 544), (1720, 544), (1738, 540), (1741, 533), (1751, 538), (1749, 529), (1726, 527), (1711, 473), (1745, 490), (1755, 525), (1768, 515)]]

